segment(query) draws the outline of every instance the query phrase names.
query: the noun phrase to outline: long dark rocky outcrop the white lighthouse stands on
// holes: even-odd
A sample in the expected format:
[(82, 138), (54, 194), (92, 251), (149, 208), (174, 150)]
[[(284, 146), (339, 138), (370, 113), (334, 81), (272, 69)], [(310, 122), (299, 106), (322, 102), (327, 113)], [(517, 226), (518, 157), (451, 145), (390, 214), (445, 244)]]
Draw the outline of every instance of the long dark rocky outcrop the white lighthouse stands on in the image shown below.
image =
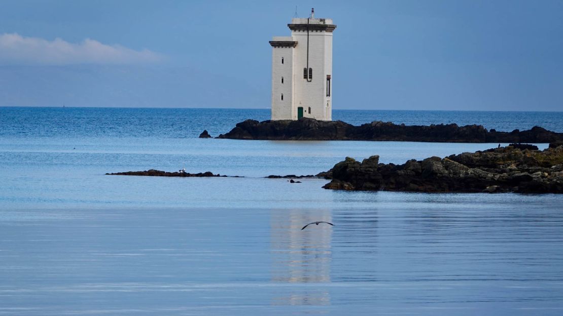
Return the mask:
[(541, 127), (530, 130), (497, 132), (482, 125), (439, 124), (430, 126), (393, 124), (373, 121), (354, 126), (343, 121), (299, 120), (256, 121), (236, 124), (229, 133), (218, 138), (309, 140), (309, 141), (409, 141), (409, 142), (467, 142), (467, 143), (549, 143), (563, 141), (563, 133)]

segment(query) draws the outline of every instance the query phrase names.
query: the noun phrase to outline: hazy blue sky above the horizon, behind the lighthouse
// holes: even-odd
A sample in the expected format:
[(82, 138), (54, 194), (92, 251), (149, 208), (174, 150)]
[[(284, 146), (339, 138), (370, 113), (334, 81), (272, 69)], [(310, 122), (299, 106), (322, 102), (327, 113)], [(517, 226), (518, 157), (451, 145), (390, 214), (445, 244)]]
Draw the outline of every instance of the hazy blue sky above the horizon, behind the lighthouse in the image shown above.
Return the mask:
[(563, 111), (563, 1), (0, 2), (0, 106), (268, 109), (272, 36), (334, 20), (333, 109)]

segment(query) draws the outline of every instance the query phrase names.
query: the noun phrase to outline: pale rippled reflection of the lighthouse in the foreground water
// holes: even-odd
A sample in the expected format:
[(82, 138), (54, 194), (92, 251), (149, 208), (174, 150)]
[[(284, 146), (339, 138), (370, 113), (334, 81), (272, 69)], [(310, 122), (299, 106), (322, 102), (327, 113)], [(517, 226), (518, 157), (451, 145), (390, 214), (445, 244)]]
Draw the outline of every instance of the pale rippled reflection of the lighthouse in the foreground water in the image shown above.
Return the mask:
[[(272, 282), (325, 283), (330, 282), (332, 263), (332, 226), (303, 225), (324, 220), (332, 222), (330, 210), (272, 210), (271, 211)], [(277, 304), (330, 304), (328, 291), (314, 287), (292, 287), (276, 299)]]

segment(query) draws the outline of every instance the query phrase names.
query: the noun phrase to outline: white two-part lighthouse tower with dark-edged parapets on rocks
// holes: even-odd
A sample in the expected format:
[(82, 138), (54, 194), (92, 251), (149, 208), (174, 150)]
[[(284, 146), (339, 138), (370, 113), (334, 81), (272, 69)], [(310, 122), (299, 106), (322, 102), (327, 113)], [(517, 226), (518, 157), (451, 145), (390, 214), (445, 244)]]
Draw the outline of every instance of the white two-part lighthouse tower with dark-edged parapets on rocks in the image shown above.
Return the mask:
[(272, 120), (332, 120), (332, 19), (311, 16), (288, 24), (291, 37), (274, 37)]

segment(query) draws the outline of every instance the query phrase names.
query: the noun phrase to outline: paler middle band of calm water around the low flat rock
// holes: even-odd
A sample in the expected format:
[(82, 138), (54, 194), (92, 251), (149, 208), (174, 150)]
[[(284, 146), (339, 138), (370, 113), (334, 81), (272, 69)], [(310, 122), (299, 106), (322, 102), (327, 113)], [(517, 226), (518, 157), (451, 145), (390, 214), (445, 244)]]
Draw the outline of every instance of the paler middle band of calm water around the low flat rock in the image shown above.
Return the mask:
[[(504, 144), (503, 144), (504, 145)], [(76, 146), (77, 149), (69, 149)], [(326, 180), (298, 192), (268, 175), (310, 175), (346, 156), (381, 162), (448, 156), (498, 144), (416, 142), (239, 141), (200, 138), (4, 138), (0, 199), (5, 206), (332, 207)], [(547, 144), (538, 144), (546, 148)], [(160, 178), (105, 173), (186, 168), (245, 178)], [(309, 182), (308, 182), (309, 183)], [(370, 204), (365, 204), (368, 207)]]

